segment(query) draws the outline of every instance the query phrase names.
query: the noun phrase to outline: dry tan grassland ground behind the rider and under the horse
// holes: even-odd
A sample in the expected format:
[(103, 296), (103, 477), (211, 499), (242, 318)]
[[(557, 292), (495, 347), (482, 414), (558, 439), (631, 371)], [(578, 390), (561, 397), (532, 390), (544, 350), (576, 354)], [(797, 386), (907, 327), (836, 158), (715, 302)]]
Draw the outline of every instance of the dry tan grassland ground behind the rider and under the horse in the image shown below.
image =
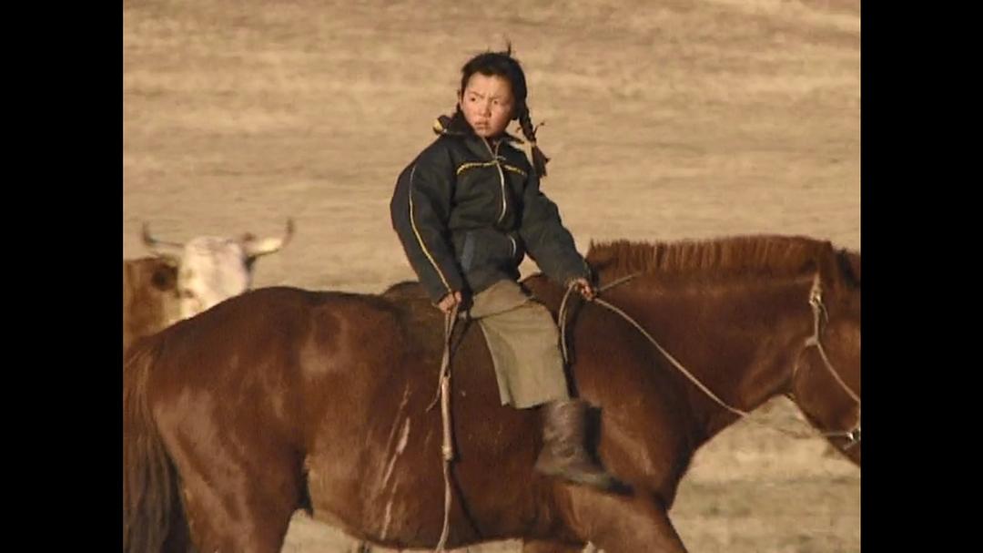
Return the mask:
[[(860, 248), (859, 0), (546, 3), (125, 0), (123, 256), (161, 237), (294, 241), (256, 286), (374, 292), (413, 274), (399, 171), (460, 66), (512, 41), (544, 190), (578, 246), (742, 233)], [(527, 262), (523, 272), (536, 268)], [(804, 425), (776, 400), (760, 419)], [(701, 450), (671, 517), (691, 551), (860, 548), (860, 470), (740, 423)], [(353, 543), (298, 515), (284, 552)], [(518, 551), (515, 542), (472, 547)]]

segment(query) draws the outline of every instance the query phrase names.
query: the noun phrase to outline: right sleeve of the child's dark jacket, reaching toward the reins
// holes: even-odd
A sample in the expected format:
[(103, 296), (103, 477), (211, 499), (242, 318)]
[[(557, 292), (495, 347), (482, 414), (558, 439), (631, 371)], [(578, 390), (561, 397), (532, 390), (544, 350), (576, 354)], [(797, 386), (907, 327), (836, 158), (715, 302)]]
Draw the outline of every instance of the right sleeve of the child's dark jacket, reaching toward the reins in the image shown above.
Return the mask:
[(540, 178), (529, 171), (523, 192), (519, 235), (530, 257), (549, 278), (566, 285), (577, 276), (591, 277), (591, 270), (577, 252), (573, 236), (560, 220), (559, 210), (540, 190)]

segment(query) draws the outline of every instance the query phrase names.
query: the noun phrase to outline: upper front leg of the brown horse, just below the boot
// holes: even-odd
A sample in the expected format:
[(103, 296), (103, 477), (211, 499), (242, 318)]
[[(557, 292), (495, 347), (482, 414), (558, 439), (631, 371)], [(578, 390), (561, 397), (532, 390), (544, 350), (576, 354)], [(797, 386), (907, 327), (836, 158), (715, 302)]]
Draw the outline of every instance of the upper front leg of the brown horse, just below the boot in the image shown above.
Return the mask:
[(570, 528), (605, 553), (686, 553), (662, 502), (656, 498), (580, 488), (571, 490), (569, 499), (565, 519)]

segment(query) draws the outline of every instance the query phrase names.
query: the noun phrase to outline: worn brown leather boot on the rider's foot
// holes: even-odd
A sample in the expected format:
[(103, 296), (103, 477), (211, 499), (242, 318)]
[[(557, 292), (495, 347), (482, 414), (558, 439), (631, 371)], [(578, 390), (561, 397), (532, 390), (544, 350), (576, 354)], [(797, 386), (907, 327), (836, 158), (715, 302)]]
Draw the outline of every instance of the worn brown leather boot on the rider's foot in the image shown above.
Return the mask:
[(536, 461), (538, 472), (602, 490), (614, 486), (614, 477), (584, 449), (586, 401), (550, 401), (543, 406), (543, 419), (543, 451)]

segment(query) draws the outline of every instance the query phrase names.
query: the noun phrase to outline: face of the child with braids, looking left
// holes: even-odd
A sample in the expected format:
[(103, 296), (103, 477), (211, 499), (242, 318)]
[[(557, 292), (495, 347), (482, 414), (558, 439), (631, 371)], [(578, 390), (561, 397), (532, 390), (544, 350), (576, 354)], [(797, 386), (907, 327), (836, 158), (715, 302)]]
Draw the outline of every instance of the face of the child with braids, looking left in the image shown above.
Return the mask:
[(512, 85), (497, 75), (475, 73), (458, 100), (464, 118), (482, 138), (494, 138), (505, 132), (515, 110)]

